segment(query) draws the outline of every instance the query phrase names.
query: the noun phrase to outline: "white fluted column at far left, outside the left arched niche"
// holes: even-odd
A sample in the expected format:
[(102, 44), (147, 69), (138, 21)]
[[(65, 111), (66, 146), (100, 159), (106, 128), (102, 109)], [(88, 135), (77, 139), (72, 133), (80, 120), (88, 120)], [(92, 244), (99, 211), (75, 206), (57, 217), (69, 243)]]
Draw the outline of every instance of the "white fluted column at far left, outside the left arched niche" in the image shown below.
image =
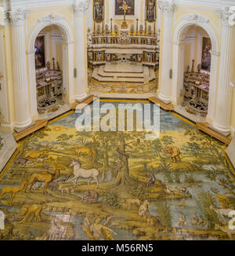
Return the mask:
[(24, 24), (28, 11), (9, 12), (11, 20), (13, 84), (15, 98), (15, 128), (24, 128), (32, 123), (27, 86), (27, 65)]

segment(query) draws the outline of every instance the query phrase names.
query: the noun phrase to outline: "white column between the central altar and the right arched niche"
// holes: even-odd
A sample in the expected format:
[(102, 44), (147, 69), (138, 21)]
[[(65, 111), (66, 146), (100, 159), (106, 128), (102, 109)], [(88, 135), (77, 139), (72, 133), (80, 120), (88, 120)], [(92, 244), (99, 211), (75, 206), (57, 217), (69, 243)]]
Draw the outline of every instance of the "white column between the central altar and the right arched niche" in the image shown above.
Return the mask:
[(159, 99), (165, 103), (171, 102), (171, 79), (170, 69), (172, 67), (172, 16), (175, 10), (175, 4), (167, 1), (158, 1), (158, 8), (164, 14), (163, 42), (161, 49), (161, 92)]

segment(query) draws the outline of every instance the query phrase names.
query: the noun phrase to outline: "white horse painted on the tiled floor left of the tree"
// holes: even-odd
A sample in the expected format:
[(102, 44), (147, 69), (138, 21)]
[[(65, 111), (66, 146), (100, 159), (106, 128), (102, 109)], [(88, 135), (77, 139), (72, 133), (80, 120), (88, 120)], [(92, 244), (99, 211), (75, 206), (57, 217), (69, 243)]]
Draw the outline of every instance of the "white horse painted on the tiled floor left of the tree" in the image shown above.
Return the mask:
[(76, 187), (78, 183), (79, 177), (83, 178), (89, 178), (90, 180), (88, 181), (88, 185), (90, 185), (91, 181), (96, 181), (96, 188), (99, 186), (99, 170), (96, 169), (90, 169), (90, 170), (85, 170), (81, 168), (81, 163), (79, 161), (72, 161), (70, 167), (74, 167), (74, 177), (72, 178), (72, 182), (74, 183), (74, 188)]

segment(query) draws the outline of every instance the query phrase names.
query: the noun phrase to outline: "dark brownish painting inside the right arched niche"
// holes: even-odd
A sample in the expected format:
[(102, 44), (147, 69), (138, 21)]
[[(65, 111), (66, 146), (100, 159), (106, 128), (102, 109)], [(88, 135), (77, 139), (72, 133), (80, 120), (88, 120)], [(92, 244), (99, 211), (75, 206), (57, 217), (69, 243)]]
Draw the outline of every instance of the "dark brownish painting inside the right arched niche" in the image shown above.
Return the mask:
[(211, 70), (211, 39), (202, 38), (201, 69)]

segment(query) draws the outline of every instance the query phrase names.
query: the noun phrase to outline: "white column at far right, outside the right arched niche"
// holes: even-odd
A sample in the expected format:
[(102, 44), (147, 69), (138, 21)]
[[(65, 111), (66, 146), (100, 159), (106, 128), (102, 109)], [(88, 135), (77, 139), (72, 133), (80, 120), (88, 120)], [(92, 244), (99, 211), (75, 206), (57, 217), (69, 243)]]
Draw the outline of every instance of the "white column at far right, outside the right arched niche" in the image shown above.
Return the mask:
[(217, 91), (215, 120), (212, 126), (221, 133), (230, 133), (230, 118), (232, 105), (233, 79), (233, 26), (229, 22), (230, 13), (227, 10), (219, 12), (222, 23), (221, 54), (219, 63), (219, 86)]

